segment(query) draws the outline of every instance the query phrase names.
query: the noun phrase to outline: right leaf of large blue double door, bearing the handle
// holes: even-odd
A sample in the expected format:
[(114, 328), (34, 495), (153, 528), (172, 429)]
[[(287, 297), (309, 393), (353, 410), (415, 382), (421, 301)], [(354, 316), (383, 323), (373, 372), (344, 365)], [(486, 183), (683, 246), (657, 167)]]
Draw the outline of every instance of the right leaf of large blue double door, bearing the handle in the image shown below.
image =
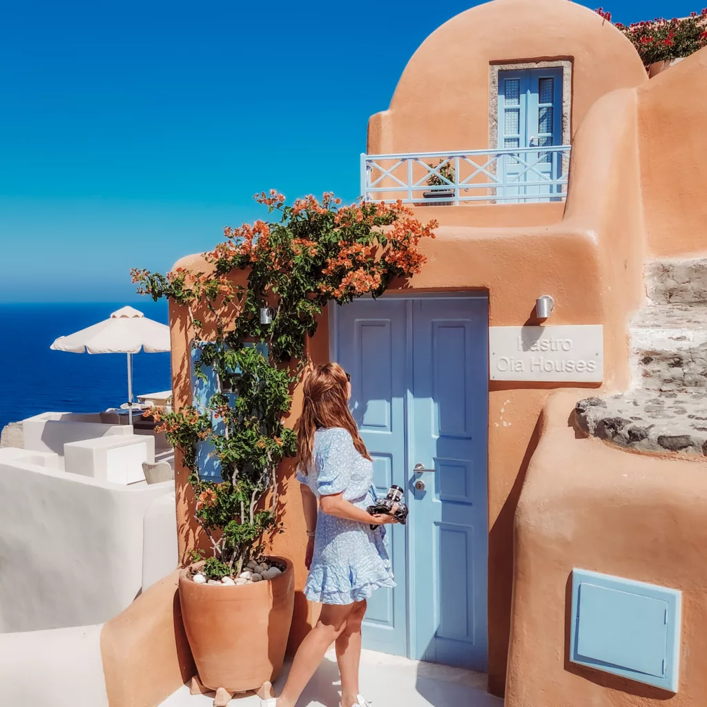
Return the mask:
[(486, 300), (417, 300), (413, 315), (414, 658), (486, 670)]

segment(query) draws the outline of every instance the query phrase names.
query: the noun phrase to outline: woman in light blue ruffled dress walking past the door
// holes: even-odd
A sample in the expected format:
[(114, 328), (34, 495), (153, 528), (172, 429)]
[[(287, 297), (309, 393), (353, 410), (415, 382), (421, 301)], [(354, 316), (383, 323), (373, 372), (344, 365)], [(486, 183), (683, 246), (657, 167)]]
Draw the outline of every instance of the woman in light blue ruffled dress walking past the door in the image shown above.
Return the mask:
[(281, 695), (264, 701), (267, 707), (295, 707), (334, 641), (341, 707), (370, 707), (358, 692), (361, 621), (373, 590), (395, 587), (385, 529), (370, 526), (395, 519), (366, 511), (375, 502), (373, 462), (349, 412), (349, 380), (337, 363), (316, 366), (305, 380), (297, 436), (297, 478), (309, 538), (305, 596), (323, 605), (317, 625), (298, 648)]

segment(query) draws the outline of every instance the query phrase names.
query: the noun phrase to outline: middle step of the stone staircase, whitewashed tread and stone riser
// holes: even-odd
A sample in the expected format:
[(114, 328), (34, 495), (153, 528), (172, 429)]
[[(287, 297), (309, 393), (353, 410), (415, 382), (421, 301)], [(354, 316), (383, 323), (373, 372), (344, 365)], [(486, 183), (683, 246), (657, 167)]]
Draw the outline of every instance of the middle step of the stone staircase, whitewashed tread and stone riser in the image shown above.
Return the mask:
[(707, 388), (707, 304), (648, 305), (629, 332), (634, 387)]

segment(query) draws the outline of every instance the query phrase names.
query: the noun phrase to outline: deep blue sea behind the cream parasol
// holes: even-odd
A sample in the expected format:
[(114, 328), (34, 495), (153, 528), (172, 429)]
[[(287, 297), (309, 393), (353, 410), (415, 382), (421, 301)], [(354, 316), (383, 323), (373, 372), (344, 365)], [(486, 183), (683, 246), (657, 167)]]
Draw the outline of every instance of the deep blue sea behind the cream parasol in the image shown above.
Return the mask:
[[(45, 411), (97, 412), (127, 402), (126, 354), (69, 354), (52, 341), (129, 304), (168, 323), (167, 303), (0, 303), (0, 428)], [(133, 356), (133, 393), (169, 390), (170, 355)]]

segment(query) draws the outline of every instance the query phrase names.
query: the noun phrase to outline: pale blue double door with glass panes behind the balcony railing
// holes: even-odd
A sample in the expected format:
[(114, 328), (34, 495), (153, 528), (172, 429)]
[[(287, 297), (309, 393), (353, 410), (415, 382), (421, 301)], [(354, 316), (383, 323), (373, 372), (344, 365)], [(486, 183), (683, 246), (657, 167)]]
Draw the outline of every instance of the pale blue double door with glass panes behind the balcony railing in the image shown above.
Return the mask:
[(523, 148), (562, 144), (562, 69), (498, 72), (498, 147), (518, 153), (498, 159), (499, 196), (513, 201), (559, 199), (555, 185), (563, 173), (562, 156), (524, 152)]

